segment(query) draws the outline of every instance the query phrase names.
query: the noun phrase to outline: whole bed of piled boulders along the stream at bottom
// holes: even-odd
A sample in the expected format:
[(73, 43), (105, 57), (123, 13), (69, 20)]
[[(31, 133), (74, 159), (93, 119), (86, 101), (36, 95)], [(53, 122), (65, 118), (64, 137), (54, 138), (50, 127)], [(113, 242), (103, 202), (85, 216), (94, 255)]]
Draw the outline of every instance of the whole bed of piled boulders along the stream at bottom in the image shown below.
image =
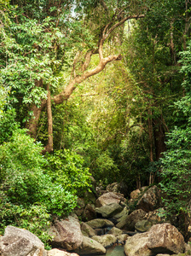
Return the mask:
[(65, 219), (55, 219), (49, 228), (55, 249), (46, 251), (37, 236), (8, 226), (0, 240), (0, 255), (100, 255), (116, 245), (124, 245), (126, 256), (189, 255), (190, 247), (182, 234), (159, 215), (162, 205), (156, 186), (133, 191), (127, 202), (116, 189), (117, 185), (114, 183), (107, 190), (99, 191), (97, 198), (90, 195), (91, 200), (86, 204), (79, 199), (75, 213)]

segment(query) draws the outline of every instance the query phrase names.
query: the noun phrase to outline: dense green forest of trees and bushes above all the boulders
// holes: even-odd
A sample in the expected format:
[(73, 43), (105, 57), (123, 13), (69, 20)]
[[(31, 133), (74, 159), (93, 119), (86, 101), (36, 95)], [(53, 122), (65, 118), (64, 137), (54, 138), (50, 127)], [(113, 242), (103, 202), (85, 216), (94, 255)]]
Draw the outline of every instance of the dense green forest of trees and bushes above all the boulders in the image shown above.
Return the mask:
[(0, 0), (0, 229), (44, 232), (97, 185), (191, 193), (191, 3)]

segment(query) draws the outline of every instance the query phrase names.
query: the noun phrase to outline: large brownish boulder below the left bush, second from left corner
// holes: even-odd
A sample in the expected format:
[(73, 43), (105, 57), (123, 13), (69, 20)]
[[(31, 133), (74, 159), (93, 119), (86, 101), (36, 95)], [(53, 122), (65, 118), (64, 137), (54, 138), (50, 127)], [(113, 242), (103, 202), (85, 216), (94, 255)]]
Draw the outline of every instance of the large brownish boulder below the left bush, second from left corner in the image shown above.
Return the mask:
[(82, 244), (83, 235), (76, 215), (55, 220), (54, 226), (49, 230), (49, 235), (54, 236), (51, 241), (54, 247), (60, 247), (68, 251), (74, 250)]

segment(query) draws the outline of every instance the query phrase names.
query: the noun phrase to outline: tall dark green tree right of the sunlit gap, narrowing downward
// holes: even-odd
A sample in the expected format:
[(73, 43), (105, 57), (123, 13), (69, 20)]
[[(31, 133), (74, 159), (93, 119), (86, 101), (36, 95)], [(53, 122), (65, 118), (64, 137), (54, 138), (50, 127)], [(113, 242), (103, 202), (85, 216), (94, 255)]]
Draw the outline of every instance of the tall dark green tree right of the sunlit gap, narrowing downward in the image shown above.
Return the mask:
[(159, 160), (165, 151), (165, 133), (171, 129), (173, 112), (169, 106), (182, 94), (177, 61), (178, 51), (184, 47), (187, 10), (184, 1), (175, 1), (173, 9), (168, 1), (155, 3), (127, 35), (126, 65), (140, 88), (135, 98), (137, 123), (148, 133), (151, 161)]

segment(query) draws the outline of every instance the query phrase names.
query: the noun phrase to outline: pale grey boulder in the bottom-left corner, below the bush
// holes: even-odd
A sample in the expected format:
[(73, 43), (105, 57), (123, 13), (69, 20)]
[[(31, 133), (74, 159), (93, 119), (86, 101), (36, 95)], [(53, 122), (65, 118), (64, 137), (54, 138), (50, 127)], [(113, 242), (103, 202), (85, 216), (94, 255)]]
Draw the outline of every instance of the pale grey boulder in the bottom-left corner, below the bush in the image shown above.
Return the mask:
[(0, 239), (2, 256), (45, 255), (43, 242), (28, 230), (8, 226)]

